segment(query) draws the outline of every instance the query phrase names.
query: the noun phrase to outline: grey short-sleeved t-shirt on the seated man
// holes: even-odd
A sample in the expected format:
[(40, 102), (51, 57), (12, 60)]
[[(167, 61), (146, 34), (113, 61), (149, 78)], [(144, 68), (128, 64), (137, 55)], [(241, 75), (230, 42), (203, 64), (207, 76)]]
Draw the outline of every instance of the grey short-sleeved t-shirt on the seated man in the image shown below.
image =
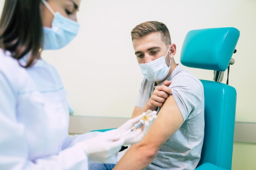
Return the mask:
[[(194, 170), (200, 160), (204, 139), (204, 90), (199, 79), (180, 64), (166, 79), (182, 113), (184, 123), (173, 134), (146, 170)], [(162, 85), (163, 82), (159, 85)], [(143, 79), (136, 106), (142, 108), (155, 90), (155, 82)], [(157, 113), (161, 108), (157, 109)], [(171, 113), (170, 113), (171, 114)]]

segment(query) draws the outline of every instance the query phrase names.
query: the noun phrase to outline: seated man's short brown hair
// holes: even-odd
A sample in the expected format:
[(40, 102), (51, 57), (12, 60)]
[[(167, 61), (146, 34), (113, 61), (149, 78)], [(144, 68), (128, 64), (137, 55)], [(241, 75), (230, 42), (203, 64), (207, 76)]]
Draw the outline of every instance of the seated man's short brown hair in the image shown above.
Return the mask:
[(135, 26), (131, 31), (132, 41), (135, 38), (141, 38), (153, 32), (160, 32), (163, 42), (167, 46), (171, 44), (171, 36), (167, 26), (164, 23), (158, 21), (147, 21)]

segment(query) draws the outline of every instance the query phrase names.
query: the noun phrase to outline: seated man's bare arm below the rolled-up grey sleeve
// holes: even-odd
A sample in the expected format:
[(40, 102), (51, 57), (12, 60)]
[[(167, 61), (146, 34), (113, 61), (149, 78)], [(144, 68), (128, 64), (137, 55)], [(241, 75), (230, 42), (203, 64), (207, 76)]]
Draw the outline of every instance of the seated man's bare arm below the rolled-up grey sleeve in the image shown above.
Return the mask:
[(156, 157), (159, 148), (182, 126), (182, 114), (170, 95), (144, 139), (132, 145), (113, 170), (144, 170)]

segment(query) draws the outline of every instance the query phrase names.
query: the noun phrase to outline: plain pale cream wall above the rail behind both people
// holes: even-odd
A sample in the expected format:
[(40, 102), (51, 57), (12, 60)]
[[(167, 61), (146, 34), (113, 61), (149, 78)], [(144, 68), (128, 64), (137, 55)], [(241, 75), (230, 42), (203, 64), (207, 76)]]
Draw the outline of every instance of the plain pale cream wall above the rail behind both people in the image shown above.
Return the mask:
[[(256, 122), (255, 9), (255, 0), (82, 0), (79, 35), (64, 49), (42, 55), (60, 72), (74, 115), (130, 117), (142, 79), (130, 38), (135, 25), (164, 22), (177, 44), (176, 62), (189, 30), (236, 27), (240, 39), (229, 76), (237, 90), (236, 121)], [(213, 71), (188, 69), (213, 79)]]

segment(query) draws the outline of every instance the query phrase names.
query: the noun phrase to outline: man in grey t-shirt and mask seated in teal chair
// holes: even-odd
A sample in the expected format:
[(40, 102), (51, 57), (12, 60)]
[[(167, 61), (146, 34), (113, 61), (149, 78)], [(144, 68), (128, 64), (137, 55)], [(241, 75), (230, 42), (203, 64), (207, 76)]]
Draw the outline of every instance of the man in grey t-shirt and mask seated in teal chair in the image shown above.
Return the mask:
[(141, 23), (131, 36), (144, 75), (132, 117), (148, 109), (158, 114), (144, 139), (113, 170), (194, 170), (204, 139), (202, 83), (175, 63), (176, 45), (165, 24)]

